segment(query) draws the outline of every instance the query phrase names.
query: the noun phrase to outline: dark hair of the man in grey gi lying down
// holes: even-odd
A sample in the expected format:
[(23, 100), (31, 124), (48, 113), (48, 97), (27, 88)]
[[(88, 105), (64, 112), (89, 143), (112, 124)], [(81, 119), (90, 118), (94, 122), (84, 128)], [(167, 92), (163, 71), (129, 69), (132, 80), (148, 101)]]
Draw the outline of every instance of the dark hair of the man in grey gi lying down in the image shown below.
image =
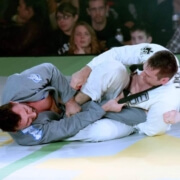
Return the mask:
[(21, 117), (12, 111), (13, 103), (0, 106), (0, 129), (3, 131), (16, 131)]

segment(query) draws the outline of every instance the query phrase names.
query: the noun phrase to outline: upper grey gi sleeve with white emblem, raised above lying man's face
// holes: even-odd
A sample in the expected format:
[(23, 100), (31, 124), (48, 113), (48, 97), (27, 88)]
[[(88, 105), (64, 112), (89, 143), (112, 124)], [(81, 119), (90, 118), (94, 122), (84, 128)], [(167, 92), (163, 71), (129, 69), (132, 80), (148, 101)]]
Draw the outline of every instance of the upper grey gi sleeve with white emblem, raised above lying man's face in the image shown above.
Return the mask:
[(49, 91), (57, 92), (57, 97), (61, 97), (64, 103), (76, 92), (53, 64), (43, 63), (9, 76), (2, 93), (2, 104), (39, 101)]

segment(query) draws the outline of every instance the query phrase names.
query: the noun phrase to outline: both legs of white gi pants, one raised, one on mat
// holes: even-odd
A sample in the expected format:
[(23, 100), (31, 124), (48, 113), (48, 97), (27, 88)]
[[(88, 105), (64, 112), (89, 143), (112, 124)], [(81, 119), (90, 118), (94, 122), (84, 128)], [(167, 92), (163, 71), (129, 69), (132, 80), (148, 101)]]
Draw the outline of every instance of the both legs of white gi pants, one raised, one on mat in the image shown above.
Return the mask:
[[(126, 67), (118, 61), (106, 61), (94, 68), (81, 91), (93, 101), (114, 99), (128, 85), (129, 74)], [(80, 130), (67, 141), (106, 141), (128, 136), (134, 128), (121, 122), (103, 118)]]

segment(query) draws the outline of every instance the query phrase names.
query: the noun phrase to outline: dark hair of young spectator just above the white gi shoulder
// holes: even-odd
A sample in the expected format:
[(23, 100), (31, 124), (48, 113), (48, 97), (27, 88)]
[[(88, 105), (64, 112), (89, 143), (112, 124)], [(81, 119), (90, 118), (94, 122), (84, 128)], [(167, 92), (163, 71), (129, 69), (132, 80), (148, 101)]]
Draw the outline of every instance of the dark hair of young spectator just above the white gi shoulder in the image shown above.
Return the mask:
[(144, 22), (140, 22), (140, 23), (136, 23), (131, 29), (130, 32), (135, 32), (135, 31), (142, 31), (144, 32), (147, 36), (152, 36), (152, 30), (151, 27), (149, 26), (149, 24), (144, 23)]

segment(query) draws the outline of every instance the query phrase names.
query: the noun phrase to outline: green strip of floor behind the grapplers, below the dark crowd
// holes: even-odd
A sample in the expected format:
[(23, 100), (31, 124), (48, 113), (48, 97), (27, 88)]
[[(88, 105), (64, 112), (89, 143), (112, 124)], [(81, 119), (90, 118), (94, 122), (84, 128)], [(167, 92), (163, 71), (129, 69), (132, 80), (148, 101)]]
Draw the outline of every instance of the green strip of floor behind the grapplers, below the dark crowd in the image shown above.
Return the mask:
[[(40, 63), (49, 62), (57, 66), (65, 75), (71, 75), (86, 65), (94, 56), (58, 57), (1, 57), (0, 76), (9, 76)], [(177, 55), (180, 60), (180, 54)]]

